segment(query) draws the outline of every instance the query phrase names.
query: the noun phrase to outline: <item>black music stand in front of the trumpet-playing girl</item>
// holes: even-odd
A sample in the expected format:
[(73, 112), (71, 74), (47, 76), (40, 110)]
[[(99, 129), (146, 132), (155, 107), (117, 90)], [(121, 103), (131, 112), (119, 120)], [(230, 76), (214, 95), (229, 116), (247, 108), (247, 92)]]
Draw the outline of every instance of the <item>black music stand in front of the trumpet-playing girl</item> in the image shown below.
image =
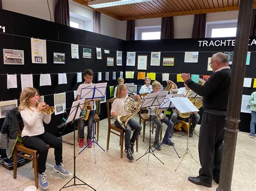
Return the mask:
[[(82, 105), (82, 104), (84, 104), (84, 99), (74, 101), (72, 103), (72, 107), (70, 108), (70, 114), (69, 114), (68, 118), (67, 119), (63, 118), (62, 121), (65, 121), (65, 122), (58, 126), (58, 128), (62, 128), (63, 126), (66, 126), (66, 125), (72, 123), (72, 126), (73, 126), (73, 144), (74, 144), (73, 145), (73, 148), (74, 148), (74, 153), (73, 153), (74, 174), (73, 174), (73, 178), (70, 179), (62, 188), (60, 188), (60, 190), (62, 190), (63, 188), (68, 188), (70, 186), (78, 186), (78, 185), (87, 185), (91, 189), (96, 190), (96, 189), (92, 188), (90, 185), (88, 185), (87, 183), (85, 183), (83, 180), (79, 179), (76, 176), (76, 145), (75, 145), (75, 131), (76, 131), (76, 128), (75, 128), (75, 123), (74, 122), (77, 121), (78, 119), (84, 117), (84, 116), (80, 116), (80, 112), (82, 111), (82, 108), (80, 107), (80, 105)], [(65, 111), (65, 113), (68, 114), (66, 111)], [(66, 186), (73, 179), (74, 179), (74, 183), (72, 185)], [(80, 180), (83, 183), (76, 183), (76, 179)]]

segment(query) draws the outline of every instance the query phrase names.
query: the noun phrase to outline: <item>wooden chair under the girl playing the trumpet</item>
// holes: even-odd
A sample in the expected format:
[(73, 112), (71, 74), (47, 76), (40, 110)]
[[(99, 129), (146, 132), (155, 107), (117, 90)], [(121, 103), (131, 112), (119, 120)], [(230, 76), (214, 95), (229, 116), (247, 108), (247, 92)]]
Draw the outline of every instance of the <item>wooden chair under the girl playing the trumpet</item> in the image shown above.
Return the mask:
[[(21, 132), (23, 130), (23, 122), (20, 122), (18, 124), (18, 136), (21, 136)], [(51, 148), (50, 145), (48, 145), (48, 148)], [(24, 154), (18, 153), (23, 152)], [(34, 175), (35, 175), (35, 186), (38, 188), (38, 166), (37, 166), (37, 159), (38, 159), (38, 151), (33, 150), (32, 148), (25, 147), (23, 143), (16, 143), (14, 147), (14, 179), (17, 178), (17, 157), (26, 158), (29, 160), (32, 160), (32, 167), (34, 168)], [(28, 155), (31, 155), (29, 157)]]

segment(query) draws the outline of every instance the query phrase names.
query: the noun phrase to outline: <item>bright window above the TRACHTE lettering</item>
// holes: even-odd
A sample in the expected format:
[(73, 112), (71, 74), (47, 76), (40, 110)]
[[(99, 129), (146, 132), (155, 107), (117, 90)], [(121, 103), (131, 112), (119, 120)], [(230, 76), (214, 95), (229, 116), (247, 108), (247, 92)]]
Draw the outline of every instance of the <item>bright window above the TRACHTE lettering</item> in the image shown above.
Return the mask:
[(237, 20), (225, 20), (206, 23), (206, 38), (235, 37), (237, 33)]

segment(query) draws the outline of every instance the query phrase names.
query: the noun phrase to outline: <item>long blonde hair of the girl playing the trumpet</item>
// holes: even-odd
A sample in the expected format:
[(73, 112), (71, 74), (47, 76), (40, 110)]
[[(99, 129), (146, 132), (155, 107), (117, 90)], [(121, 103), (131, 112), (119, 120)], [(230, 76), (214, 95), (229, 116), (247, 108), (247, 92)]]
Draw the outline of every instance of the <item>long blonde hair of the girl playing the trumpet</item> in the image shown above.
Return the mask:
[(39, 95), (39, 91), (36, 88), (25, 88), (23, 89), (21, 96), (19, 96), (19, 111), (29, 108), (29, 98)]

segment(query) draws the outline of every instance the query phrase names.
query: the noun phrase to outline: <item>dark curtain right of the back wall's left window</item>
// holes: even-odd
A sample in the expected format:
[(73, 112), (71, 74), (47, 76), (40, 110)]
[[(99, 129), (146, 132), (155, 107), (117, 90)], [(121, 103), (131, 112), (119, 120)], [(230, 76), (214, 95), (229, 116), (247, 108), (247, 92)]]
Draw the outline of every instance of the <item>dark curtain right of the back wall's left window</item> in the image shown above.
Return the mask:
[(163, 17), (161, 22), (161, 39), (174, 38), (173, 17)]

